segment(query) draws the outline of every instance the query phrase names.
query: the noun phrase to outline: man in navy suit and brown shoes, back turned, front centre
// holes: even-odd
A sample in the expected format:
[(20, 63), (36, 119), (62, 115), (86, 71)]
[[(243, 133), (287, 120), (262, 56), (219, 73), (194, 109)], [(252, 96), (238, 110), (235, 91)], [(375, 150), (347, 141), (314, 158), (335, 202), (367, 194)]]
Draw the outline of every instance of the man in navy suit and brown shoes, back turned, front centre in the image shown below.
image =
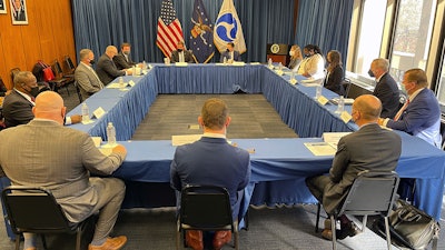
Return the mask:
[[(237, 221), (243, 190), (250, 179), (249, 153), (227, 142), (226, 131), (230, 117), (222, 100), (207, 100), (198, 122), (204, 128), (202, 138), (176, 149), (170, 168), (171, 187), (178, 191), (187, 184), (226, 188), (230, 194), (233, 217)], [(216, 232), (214, 248), (221, 249), (230, 239), (230, 231)], [(195, 250), (201, 250), (202, 232), (188, 230), (186, 242)]]

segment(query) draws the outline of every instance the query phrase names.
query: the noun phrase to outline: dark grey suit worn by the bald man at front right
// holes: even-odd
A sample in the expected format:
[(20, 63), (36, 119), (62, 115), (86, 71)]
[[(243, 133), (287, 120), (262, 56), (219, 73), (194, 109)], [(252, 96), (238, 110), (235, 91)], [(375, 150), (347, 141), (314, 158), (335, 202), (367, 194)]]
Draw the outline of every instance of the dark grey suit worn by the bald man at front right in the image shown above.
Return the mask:
[[(337, 147), (329, 176), (320, 187), (308, 187), (313, 193), (323, 192), (323, 207), (332, 213), (346, 197), (350, 186), (360, 171), (394, 171), (402, 152), (402, 139), (397, 133), (380, 128), (377, 123), (363, 126), (358, 131), (343, 137)], [(314, 180), (313, 179), (313, 180)], [(316, 182), (310, 181), (307, 182)], [(316, 190), (313, 191), (313, 189)]]

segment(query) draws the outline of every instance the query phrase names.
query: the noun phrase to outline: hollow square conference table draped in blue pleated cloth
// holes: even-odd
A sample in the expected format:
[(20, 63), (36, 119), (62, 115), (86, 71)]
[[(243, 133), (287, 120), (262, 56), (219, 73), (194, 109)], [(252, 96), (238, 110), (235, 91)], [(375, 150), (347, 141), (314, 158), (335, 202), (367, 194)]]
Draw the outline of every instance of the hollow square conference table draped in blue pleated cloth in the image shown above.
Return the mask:
[[(316, 157), (305, 142), (320, 142), (324, 132), (357, 130), (354, 122), (344, 122), (335, 112), (337, 106), (320, 104), (314, 99), (315, 87), (290, 84), (289, 71), (279, 72), (263, 64), (221, 66), (188, 64), (187, 67), (152, 64), (145, 74), (123, 77), (134, 87), (106, 88), (86, 100), (90, 111), (99, 107), (106, 111), (90, 124), (71, 128), (106, 140), (106, 127), (113, 122), (119, 143), (128, 149), (122, 166), (113, 173), (128, 183), (122, 208), (156, 207), (146, 200), (145, 190), (134, 183), (162, 183), (168, 187), (169, 168), (176, 147), (169, 140), (131, 141), (131, 136), (146, 117), (150, 104), (162, 93), (263, 93), (280, 114), (284, 122), (300, 137), (297, 139), (236, 139), (238, 147), (255, 149), (251, 158), (251, 179), (245, 189), (244, 211), (248, 204), (315, 203), (304, 180), (327, 173), (334, 156)], [(117, 82), (115, 80), (113, 82)], [(323, 89), (327, 99), (338, 97)], [(350, 112), (350, 106), (345, 107)], [(80, 106), (70, 113), (80, 113)], [(402, 178), (416, 178), (416, 206), (439, 219), (444, 190), (445, 153), (427, 142), (398, 132), (403, 138), (402, 157), (396, 171)], [(155, 190), (155, 192), (164, 192)], [(171, 193), (172, 190), (170, 190)], [(161, 196), (161, 194), (159, 194)], [(175, 206), (172, 202), (170, 206)]]

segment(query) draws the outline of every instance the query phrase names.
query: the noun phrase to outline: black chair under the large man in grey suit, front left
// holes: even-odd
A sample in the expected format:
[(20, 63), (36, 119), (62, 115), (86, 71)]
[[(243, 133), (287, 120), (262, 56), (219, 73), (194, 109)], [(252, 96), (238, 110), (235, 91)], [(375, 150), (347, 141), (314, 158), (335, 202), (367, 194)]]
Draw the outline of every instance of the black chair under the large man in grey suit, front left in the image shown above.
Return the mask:
[(81, 248), (81, 232), (89, 219), (70, 226), (62, 208), (49, 190), (33, 187), (10, 186), (1, 193), (7, 217), (16, 237), (16, 250), (20, 247), (20, 234), (32, 232), (41, 236), (43, 248), (48, 249), (46, 233), (77, 233), (76, 250)]

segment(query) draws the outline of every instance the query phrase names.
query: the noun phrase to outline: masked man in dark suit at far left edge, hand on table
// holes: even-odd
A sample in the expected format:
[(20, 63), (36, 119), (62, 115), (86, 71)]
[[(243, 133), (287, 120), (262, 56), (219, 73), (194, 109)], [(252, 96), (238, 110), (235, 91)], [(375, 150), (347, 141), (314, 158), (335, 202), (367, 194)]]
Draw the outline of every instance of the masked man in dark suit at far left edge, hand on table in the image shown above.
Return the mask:
[[(29, 71), (20, 71), (16, 74), (14, 88), (4, 97), (3, 117), (7, 128), (26, 124), (34, 118), (32, 108), (34, 99), (39, 94), (39, 87), (36, 77)], [(82, 117), (75, 114), (67, 117), (65, 124), (78, 123), (82, 121)]]

